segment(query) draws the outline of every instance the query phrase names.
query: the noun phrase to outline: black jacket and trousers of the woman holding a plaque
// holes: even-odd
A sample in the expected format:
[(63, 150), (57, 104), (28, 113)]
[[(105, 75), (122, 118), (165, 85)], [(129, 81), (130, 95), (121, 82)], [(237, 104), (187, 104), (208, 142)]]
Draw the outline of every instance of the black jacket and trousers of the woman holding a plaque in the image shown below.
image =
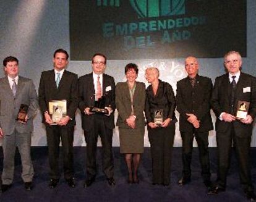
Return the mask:
[(168, 127), (150, 128), (148, 126), (148, 138), (151, 145), (153, 183), (169, 185), (171, 178), (171, 151), (175, 135), (176, 100), (173, 88), (169, 83), (159, 80), (156, 95), (152, 85), (146, 90), (145, 114), (147, 123), (154, 122), (155, 109), (163, 109), (163, 120), (172, 119)]

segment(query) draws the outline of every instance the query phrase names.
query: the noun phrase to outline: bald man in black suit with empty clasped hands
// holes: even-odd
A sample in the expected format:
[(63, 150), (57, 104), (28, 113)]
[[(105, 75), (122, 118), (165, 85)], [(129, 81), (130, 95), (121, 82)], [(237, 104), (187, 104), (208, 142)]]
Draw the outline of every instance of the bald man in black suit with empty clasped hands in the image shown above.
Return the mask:
[(183, 174), (179, 185), (190, 182), (193, 140), (197, 140), (202, 177), (205, 186), (210, 187), (210, 161), (208, 153), (208, 133), (213, 130), (210, 114), (212, 83), (208, 77), (198, 75), (198, 61), (187, 57), (185, 69), (188, 76), (177, 82), (177, 111), (179, 130), (182, 137)]

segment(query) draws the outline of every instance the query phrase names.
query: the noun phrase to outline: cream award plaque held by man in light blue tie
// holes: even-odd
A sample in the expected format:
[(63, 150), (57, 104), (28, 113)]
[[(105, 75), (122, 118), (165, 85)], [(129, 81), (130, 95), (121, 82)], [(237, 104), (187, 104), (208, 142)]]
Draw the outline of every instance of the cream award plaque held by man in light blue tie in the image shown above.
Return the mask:
[(67, 101), (62, 100), (52, 100), (49, 101), (49, 115), (53, 120), (52, 125), (56, 125), (62, 117), (66, 117), (67, 114)]

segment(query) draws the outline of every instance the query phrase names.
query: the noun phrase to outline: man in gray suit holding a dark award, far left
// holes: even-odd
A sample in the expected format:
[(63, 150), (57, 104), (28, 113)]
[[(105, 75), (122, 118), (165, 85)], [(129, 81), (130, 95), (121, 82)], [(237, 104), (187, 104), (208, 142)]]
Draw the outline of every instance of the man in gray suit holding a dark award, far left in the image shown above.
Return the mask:
[[(34, 175), (30, 157), (33, 116), (38, 108), (38, 97), (32, 80), (19, 75), (19, 61), (9, 56), (3, 61), (6, 77), (0, 78), (0, 137), (4, 151), (2, 171), (2, 192), (7, 191), (14, 178), (14, 157), (16, 146), (22, 161), (22, 179), (26, 190), (32, 190)], [(16, 120), (20, 105), (27, 105), (25, 119)]]

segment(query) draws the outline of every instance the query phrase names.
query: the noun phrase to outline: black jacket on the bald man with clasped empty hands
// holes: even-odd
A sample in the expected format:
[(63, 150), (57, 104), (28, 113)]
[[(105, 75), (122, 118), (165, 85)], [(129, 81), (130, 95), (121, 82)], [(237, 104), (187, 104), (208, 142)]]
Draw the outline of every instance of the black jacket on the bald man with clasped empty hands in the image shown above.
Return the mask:
[(177, 111), (179, 112), (179, 130), (192, 132), (193, 124), (187, 121), (186, 114), (194, 114), (200, 120), (198, 132), (213, 130), (210, 114), (210, 99), (213, 85), (211, 79), (197, 75), (194, 88), (190, 84), (189, 77), (177, 82)]

